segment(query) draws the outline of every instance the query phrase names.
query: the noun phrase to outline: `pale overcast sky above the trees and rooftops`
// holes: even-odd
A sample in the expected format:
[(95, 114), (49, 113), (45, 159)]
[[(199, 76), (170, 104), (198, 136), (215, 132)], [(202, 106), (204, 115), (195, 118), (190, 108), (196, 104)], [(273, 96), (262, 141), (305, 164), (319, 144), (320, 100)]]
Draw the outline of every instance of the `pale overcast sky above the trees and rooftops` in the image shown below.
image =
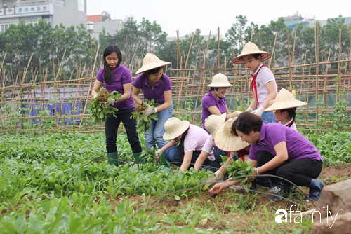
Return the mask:
[(143, 17), (157, 24), (168, 33), (176, 36), (190, 34), (199, 28), (201, 34), (215, 34), (220, 27), (220, 34), (235, 22), (235, 16), (246, 15), (249, 22), (267, 25), (270, 20), (293, 15), (296, 12), (303, 18), (325, 20), (338, 15), (351, 17), (351, 1), (310, 1), (310, 0), (86, 0), (88, 15), (98, 15), (102, 11), (110, 13), (113, 19), (133, 16), (138, 22)]

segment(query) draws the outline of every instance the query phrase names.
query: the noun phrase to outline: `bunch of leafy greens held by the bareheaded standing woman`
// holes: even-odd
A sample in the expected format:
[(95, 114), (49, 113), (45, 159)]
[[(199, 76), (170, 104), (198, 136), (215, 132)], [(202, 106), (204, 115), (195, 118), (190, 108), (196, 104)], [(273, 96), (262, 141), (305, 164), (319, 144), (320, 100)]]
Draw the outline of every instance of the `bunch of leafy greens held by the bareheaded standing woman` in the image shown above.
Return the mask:
[(89, 104), (89, 113), (91, 118), (95, 123), (105, 122), (107, 117), (112, 115), (116, 117), (116, 111), (118, 109), (113, 106), (106, 106), (105, 102), (107, 99), (119, 99), (122, 95), (117, 92), (109, 92), (105, 88), (100, 88), (98, 91), (98, 95), (91, 100), (91, 104)]

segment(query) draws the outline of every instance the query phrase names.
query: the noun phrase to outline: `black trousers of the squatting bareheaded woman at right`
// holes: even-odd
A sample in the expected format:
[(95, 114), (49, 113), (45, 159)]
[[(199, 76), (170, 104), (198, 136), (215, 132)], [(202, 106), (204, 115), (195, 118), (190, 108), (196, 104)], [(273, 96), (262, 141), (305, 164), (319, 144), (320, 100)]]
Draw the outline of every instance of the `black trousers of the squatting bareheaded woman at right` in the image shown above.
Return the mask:
[[(265, 163), (268, 163), (272, 158), (274, 158), (274, 156), (267, 151), (258, 152), (258, 167), (265, 165)], [(286, 162), (279, 167), (264, 172), (263, 174), (274, 174), (278, 177), (288, 179), (289, 181), (293, 182), (293, 184), (299, 186), (309, 186), (311, 179), (317, 179), (319, 174), (321, 174), (322, 164), (322, 161), (315, 160), (313, 158), (301, 158), (293, 162)], [(272, 179), (272, 177), (267, 178), (272, 181), (277, 181), (277, 179)]]

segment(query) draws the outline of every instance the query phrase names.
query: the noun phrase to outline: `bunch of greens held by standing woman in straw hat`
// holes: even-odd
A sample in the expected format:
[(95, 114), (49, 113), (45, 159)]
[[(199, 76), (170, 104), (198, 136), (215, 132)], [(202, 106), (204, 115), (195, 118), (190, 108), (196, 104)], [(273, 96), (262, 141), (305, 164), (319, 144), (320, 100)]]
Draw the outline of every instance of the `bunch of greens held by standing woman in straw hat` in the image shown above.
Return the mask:
[(145, 99), (143, 104), (135, 106), (135, 111), (132, 114), (133, 118), (136, 118), (138, 122), (138, 125), (136, 127), (137, 132), (146, 132), (147, 130), (150, 130), (151, 122), (157, 121), (159, 119), (157, 113), (152, 113), (150, 116), (144, 116), (144, 112), (147, 108), (147, 105), (145, 105), (145, 103), (149, 104), (153, 109), (159, 106), (158, 103), (154, 103), (154, 99)]

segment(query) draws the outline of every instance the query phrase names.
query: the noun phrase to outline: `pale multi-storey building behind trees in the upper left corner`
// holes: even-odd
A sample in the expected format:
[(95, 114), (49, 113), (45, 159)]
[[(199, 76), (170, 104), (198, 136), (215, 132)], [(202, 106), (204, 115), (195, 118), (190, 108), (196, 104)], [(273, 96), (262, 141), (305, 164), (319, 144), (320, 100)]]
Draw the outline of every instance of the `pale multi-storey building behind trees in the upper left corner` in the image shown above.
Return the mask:
[(86, 0), (0, 0), (0, 32), (8, 25), (46, 20), (51, 26), (86, 24)]

